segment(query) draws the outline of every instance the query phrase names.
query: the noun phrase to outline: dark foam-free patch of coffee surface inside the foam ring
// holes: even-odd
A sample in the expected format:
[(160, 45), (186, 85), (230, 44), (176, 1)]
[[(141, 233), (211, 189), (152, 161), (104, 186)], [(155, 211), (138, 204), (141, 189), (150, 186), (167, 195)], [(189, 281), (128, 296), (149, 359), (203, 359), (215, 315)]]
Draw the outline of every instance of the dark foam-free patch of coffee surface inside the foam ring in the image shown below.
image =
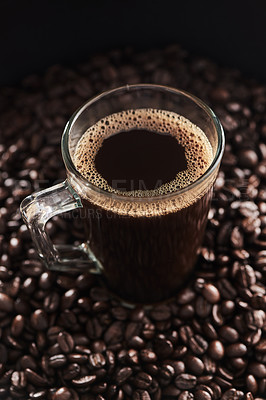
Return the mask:
[(173, 136), (133, 129), (105, 139), (95, 167), (114, 189), (152, 190), (174, 180), (187, 161)]

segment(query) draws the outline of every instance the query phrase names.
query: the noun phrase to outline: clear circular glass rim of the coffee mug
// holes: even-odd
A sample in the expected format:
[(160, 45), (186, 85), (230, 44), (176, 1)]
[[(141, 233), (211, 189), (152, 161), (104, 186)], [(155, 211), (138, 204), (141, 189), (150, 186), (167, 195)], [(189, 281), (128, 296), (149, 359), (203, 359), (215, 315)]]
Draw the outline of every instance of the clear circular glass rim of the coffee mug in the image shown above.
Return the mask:
[[(102, 98), (106, 96), (110, 96), (112, 94), (119, 94), (119, 92), (130, 92), (134, 90), (144, 90), (144, 89), (149, 89), (149, 90), (159, 90), (159, 91), (164, 91), (164, 92), (169, 92), (172, 94), (178, 94), (182, 95), (194, 103), (196, 103), (201, 109), (203, 109), (206, 114), (211, 118), (214, 127), (217, 132), (217, 137), (218, 137), (218, 145), (217, 145), (217, 150), (216, 154), (213, 157), (212, 163), (208, 167), (208, 169), (194, 182), (190, 183), (189, 185), (185, 186), (184, 188), (180, 188), (175, 190), (174, 192), (171, 193), (166, 193), (166, 194), (160, 194), (156, 196), (143, 196), (143, 197), (137, 197), (137, 196), (127, 196), (123, 194), (118, 194), (114, 192), (108, 192), (104, 189), (101, 189), (94, 185), (93, 183), (89, 182), (86, 178), (81, 175), (81, 173), (75, 168), (74, 163), (72, 161), (71, 155), (69, 153), (69, 135), (71, 132), (71, 129), (75, 123), (75, 121), (79, 118), (79, 116), (82, 114), (82, 112), (88, 108), (90, 105), (93, 103), (101, 100)], [(78, 179), (82, 185), (84, 185), (86, 188), (93, 190), (94, 192), (97, 192), (100, 195), (110, 197), (112, 199), (118, 200), (118, 201), (127, 201), (127, 202), (144, 202), (144, 201), (157, 201), (157, 200), (162, 200), (163, 199), (171, 199), (172, 197), (176, 197), (178, 195), (182, 195), (183, 193), (193, 190), (195, 187), (200, 185), (202, 182), (204, 182), (208, 177), (214, 172), (216, 167), (220, 164), (222, 156), (223, 156), (223, 151), (224, 151), (224, 146), (225, 146), (225, 136), (224, 136), (224, 130), (221, 125), (221, 122), (219, 121), (218, 117), (214, 113), (214, 111), (206, 104), (204, 103), (201, 99), (199, 99), (197, 96), (194, 96), (193, 94), (186, 92), (185, 90), (181, 89), (176, 89), (172, 88), (170, 86), (163, 86), (163, 85), (156, 85), (156, 84), (150, 84), (150, 83), (145, 83), (145, 84), (134, 84), (134, 85), (124, 85), (120, 86), (114, 89), (110, 89), (107, 91), (104, 91), (94, 97), (92, 97), (90, 100), (86, 101), (81, 107), (79, 107), (70, 117), (69, 121), (67, 122), (63, 134), (62, 134), (62, 140), (61, 140), (61, 152), (62, 152), (62, 157), (64, 164), (66, 166), (66, 169), (68, 172), (70, 172), (72, 175), (75, 176), (76, 179)]]

